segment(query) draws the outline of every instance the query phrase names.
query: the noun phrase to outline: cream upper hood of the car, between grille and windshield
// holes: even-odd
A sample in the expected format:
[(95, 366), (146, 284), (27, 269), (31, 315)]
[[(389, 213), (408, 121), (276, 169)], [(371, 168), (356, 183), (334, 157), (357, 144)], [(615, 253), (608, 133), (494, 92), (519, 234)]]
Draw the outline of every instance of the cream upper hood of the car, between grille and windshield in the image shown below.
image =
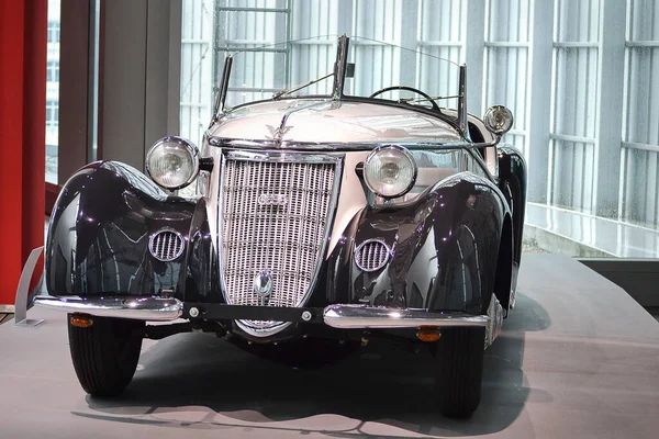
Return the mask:
[(215, 139), (287, 143), (455, 143), (460, 134), (438, 117), (400, 106), (330, 99), (248, 104), (220, 117)]

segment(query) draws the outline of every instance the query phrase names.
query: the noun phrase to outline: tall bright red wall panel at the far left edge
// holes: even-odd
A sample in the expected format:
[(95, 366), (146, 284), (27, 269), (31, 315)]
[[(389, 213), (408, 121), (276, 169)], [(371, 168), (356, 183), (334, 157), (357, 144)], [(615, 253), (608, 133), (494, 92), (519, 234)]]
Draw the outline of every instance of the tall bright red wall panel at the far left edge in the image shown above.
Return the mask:
[(0, 305), (43, 245), (46, 32), (46, 0), (0, 0)]

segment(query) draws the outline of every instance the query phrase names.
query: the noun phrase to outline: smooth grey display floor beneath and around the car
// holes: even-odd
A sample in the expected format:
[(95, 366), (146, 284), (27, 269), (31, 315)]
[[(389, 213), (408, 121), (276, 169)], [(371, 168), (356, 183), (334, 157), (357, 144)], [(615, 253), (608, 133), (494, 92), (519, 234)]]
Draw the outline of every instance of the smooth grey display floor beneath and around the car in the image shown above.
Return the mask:
[(276, 365), (208, 335), (144, 344), (120, 398), (79, 387), (63, 315), (0, 326), (1, 438), (659, 437), (659, 323), (578, 261), (525, 255), (469, 420), (433, 410), (426, 357), (369, 347), (328, 369)]

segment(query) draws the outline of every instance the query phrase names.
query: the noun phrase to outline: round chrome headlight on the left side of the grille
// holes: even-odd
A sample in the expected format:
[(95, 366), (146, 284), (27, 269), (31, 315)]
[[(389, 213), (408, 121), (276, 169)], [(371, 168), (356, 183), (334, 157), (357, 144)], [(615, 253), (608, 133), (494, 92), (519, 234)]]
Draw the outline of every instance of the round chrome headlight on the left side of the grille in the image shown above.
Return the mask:
[(185, 188), (199, 172), (199, 151), (183, 138), (164, 137), (146, 154), (146, 171), (163, 188)]

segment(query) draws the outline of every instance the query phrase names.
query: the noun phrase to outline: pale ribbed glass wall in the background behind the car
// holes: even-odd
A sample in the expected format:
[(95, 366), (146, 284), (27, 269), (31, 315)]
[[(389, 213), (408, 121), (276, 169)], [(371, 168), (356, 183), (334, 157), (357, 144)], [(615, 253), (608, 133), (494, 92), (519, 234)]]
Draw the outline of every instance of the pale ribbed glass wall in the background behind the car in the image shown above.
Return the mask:
[[(659, 258), (659, 0), (183, 0), (182, 20), (181, 132), (194, 142), (228, 48), (346, 33), (469, 60), (469, 111), (515, 114), (503, 140), (528, 162), (525, 249)], [(327, 50), (293, 43), (277, 64), (310, 78)], [(369, 56), (373, 72), (421, 71)]]

